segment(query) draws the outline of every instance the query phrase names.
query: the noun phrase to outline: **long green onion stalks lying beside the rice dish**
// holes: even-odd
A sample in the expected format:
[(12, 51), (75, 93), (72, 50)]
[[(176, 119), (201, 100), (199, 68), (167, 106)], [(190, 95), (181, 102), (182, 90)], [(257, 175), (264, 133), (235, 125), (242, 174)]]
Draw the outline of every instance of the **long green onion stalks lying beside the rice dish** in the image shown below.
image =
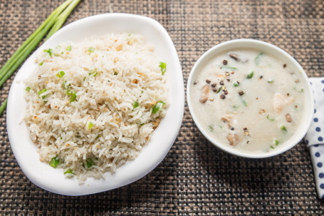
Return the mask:
[[(61, 28), (64, 21), (68, 18), (71, 11), (78, 5), (80, 0), (67, 0), (58, 6), (48, 18), (43, 21), (43, 24), (29, 36), (25, 42), (16, 50), (9, 60), (0, 69), (0, 87), (8, 80), (8, 78), (16, 71), (17, 68), (25, 61), (29, 54), (38, 46), (44, 36), (48, 39), (58, 29)], [(49, 31), (51, 29), (51, 31)], [(49, 31), (49, 32), (48, 32)], [(7, 99), (0, 106), (0, 115), (6, 108)]]

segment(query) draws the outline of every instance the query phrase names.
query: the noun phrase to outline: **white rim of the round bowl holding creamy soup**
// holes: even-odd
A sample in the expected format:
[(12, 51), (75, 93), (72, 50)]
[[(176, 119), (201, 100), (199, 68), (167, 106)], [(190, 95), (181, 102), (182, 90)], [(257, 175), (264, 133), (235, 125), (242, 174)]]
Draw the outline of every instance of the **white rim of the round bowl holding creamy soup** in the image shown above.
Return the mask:
[[(310, 102), (309, 114), (307, 115), (305, 123), (303, 123), (303, 130), (302, 130), (303, 132), (299, 133), (296, 138), (296, 140), (298, 140), (298, 141), (296, 143), (295, 142), (291, 143), (290, 145), (282, 145), (281, 148), (276, 148), (275, 150), (271, 150), (268, 153), (257, 153), (257, 154), (256, 153), (246, 153), (241, 150), (235, 150), (234, 148), (230, 148), (230, 147), (227, 147), (226, 145), (222, 145), (221, 143), (218, 143), (216, 140), (214, 140), (214, 138), (211, 137), (211, 135), (209, 135), (207, 133), (207, 130), (205, 130), (202, 127), (202, 125), (200, 125), (197, 115), (194, 112), (194, 108), (192, 107), (193, 102), (190, 98), (190, 91), (191, 91), (190, 86), (192, 83), (192, 78), (194, 77), (194, 74), (197, 73), (197, 68), (200, 66), (200, 64), (204, 63), (203, 61), (209, 61), (206, 59), (209, 58), (210, 56), (215, 56), (216, 52), (219, 49), (223, 49), (221, 51), (226, 51), (226, 50), (231, 49), (231, 48), (226, 48), (226, 46), (239, 45), (239, 48), (244, 48), (244, 47), (249, 48), (249, 44), (252, 44), (252, 43), (254, 43), (254, 45), (262, 46), (263, 48), (266, 48), (266, 47), (271, 48), (274, 51), (285, 55), (288, 58), (288, 61), (291, 61), (291, 63), (293, 63), (301, 71), (301, 76), (303, 77), (303, 79), (305, 79), (305, 88), (308, 89), (308, 93), (309, 93), (308, 94), (308, 101)], [(219, 43), (216, 46), (213, 46), (212, 48), (210, 48), (208, 51), (203, 53), (202, 56), (199, 57), (199, 59), (196, 61), (196, 63), (194, 63), (194, 66), (192, 67), (192, 70), (189, 73), (189, 78), (187, 81), (187, 104), (188, 104), (189, 112), (192, 115), (192, 119), (194, 120), (194, 123), (197, 125), (197, 128), (204, 135), (204, 137), (207, 138), (207, 140), (209, 140), (209, 142), (211, 142), (217, 148), (224, 150), (224, 152), (230, 153), (231, 155), (236, 155), (236, 156), (239, 156), (242, 158), (256, 158), (256, 159), (257, 158), (270, 158), (270, 157), (279, 155), (281, 153), (286, 152), (287, 150), (290, 150), (295, 145), (297, 145), (303, 139), (305, 134), (307, 133), (310, 123), (313, 119), (313, 110), (314, 110), (313, 91), (311, 90), (310, 82), (308, 81), (308, 76), (305, 73), (305, 71), (303, 70), (303, 68), (301, 67), (301, 65), (298, 63), (298, 61), (296, 61), (295, 58), (293, 58), (289, 53), (287, 53), (283, 49), (279, 48), (278, 46), (275, 46), (271, 43), (267, 43), (265, 41), (259, 41), (259, 40), (255, 40), (255, 39), (251, 39), (251, 38), (240, 38), (240, 39), (234, 39), (234, 40), (230, 40), (230, 41), (225, 41), (223, 43)]]

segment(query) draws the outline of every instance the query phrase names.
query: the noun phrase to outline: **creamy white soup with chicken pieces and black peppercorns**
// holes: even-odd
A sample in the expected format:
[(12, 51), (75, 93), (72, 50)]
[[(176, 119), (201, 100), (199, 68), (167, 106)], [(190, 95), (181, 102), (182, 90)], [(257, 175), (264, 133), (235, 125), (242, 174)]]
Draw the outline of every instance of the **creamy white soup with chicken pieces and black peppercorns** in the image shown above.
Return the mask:
[(212, 58), (192, 79), (192, 108), (218, 143), (264, 153), (291, 138), (301, 121), (303, 86), (281, 59), (236, 49)]

